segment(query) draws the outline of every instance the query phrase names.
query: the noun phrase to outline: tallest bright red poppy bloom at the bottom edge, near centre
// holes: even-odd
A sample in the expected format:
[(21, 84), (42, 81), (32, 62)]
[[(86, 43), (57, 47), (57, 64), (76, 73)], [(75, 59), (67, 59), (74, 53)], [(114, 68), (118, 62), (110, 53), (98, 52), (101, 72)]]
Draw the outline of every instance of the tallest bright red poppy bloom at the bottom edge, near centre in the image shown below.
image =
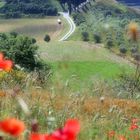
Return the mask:
[(49, 140), (76, 140), (80, 131), (78, 120), (67, 120), (64, 128), (56, 130), (49, 136)]

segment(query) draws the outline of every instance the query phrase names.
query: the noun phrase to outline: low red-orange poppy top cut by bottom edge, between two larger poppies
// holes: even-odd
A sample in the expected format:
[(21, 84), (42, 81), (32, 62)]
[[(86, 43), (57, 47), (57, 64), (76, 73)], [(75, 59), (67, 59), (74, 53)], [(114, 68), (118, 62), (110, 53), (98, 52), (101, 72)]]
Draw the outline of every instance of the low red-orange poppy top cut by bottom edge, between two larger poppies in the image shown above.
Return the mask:
[(47, 134), (32, 133), (29, 140), (49, 140), (49, 138)]

